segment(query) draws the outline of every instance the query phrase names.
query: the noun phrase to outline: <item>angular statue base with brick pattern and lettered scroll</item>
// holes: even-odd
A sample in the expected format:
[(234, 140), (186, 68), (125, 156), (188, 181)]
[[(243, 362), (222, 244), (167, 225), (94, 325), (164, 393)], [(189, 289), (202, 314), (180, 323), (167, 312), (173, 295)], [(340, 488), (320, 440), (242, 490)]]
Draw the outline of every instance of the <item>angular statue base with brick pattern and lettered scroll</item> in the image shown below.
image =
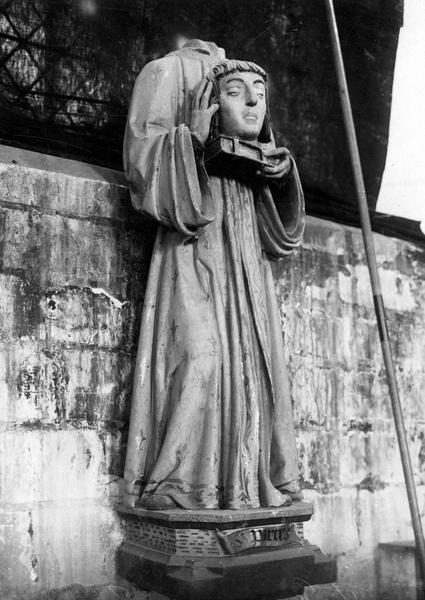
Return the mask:
[(118, 507), (119, 574), (171, 600), (273, 600), (336, 580), (336, 562), (304, 540), (312, 504), (249, 510)]

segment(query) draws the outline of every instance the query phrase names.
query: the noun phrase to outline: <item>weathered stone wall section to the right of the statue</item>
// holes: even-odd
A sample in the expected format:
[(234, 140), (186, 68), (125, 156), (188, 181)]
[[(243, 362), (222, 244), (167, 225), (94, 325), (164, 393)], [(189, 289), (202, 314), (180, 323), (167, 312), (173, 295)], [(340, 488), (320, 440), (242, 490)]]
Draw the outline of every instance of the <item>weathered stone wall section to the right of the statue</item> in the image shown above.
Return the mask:
[[(425, 253), (374, 239), (425, 514)], [(316, 504), (306, 536), (338, 557), (347, 600), (374, 600), (378, 543), (413, 539), (413, 532), (361, 233), (309, 219), (301, 251), (274, 274), (305, 496)]]

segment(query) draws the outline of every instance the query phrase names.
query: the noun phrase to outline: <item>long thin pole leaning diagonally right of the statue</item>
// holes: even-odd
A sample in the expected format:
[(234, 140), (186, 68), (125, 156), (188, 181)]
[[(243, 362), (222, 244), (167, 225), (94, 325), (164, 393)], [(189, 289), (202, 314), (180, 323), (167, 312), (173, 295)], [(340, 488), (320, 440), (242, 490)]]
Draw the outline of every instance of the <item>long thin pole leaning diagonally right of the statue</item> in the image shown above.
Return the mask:
[(375, 305), (376, 319), (378, 321), (379, 337), (384, 355), (385, 369), (387, 372), (388, 388), (391, 397), (395, 428), (397, 432), (398, 445), (400, 448), (401, 462), (403, 465), (404, 478), (406, 482), (407, 496), (409, 500), (410, 513), (412, 517), (413, 531), (416, 541), (416, 556), (419, 567), (418, 591), (425, 598), (425, 541), (422, 530), (422, 522), (419, 513), (418, 499), (416, 495), (415, 481), (413, 479), (412, 464), (410, 461), (409, 448), (407, 445), (406, 430), (404, 428), (403, 413), (401, 410), (400, 396), (394, 370), (394, 362), (388, 337), (385, 308), (382, 299), (381, 284), (376, 264), (375, 248), (372, 238), (372, 227), (370, 224), (369, 207), (367, 203), (366, 190), (363, 180), (363, 172), (360, 163), (359, 148), (357, 145), (356, 130), (354, 127), (353, 114), (351, 111), (350, 97), (348, 94), (347, 79), (345, 77), (344, 61), (342, 58), (341, 44), (339, 40), (338, 26), (335, 18), (333, 0), (325, 0), (328, 16), (329, 30), (332, 40), (335, 67), (338, 78), (339, 95), (344, 116), (345, 130), (348, 138), (351, 163), (356, 184), (357, 201), (360, 213), (360, 222), (363, 233), (363, 241), (366, 251), (366, 260), (369, 267), (370, 281), (372, 284), (373, 301)]

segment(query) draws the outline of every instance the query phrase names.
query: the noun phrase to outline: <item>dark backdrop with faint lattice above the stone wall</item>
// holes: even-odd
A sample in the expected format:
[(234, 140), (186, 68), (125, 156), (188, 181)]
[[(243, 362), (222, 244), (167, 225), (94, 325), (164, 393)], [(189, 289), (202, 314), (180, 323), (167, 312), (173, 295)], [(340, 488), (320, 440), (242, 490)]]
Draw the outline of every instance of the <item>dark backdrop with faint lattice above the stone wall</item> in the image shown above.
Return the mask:
[[(402, 1), (335, 7), (374, 229), (422, 243), (416, 222), (374, 212)], [(322, 0), (3, 0), (0, 142), (121, 169), (134, 80), (178, 31), (269, 72), (275, 135), (297, 158), (308, 212), (357, 225)]]

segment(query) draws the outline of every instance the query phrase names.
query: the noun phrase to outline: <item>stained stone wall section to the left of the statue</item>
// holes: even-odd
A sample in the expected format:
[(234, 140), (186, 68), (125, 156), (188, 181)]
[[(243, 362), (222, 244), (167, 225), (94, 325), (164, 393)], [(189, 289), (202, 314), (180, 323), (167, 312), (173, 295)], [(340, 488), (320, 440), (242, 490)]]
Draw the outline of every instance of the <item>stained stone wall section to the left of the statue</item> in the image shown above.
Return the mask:
[(113, 579), (121, 531), (111, 501), (153, 232), (130, 210), (120, 174), (5, 147), (0, 161), (0, 598), (9, 600)]

